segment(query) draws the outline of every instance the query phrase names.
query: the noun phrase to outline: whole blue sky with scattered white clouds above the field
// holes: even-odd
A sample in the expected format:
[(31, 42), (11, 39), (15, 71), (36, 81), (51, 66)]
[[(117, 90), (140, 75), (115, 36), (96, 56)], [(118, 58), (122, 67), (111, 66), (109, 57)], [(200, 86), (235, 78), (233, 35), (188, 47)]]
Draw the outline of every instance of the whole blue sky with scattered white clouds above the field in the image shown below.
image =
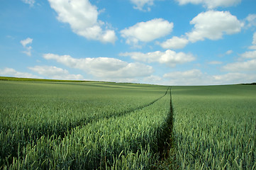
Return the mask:
[(0, 76), (256, 81), (255, 0), (0, 0)]

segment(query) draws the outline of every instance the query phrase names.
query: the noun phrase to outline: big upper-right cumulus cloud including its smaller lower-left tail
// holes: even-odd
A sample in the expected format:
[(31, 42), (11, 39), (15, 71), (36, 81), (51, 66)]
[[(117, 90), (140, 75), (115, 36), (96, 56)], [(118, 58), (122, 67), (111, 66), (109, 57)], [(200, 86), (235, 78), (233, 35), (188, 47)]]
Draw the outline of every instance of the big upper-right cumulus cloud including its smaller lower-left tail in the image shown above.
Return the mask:
[(206, 11), (199, 13), (190, 21), (190, 24), (194, 25), (194, 28), (189, 33), (185, 33), (181, 37), (174, 36), (158, 44), (166, 49), (180, 49), (189, 42), (205, 39), (219, 40), (225, 34), (239, 33), (244, 26), (244, 23), (239, 21), (229, 11)]

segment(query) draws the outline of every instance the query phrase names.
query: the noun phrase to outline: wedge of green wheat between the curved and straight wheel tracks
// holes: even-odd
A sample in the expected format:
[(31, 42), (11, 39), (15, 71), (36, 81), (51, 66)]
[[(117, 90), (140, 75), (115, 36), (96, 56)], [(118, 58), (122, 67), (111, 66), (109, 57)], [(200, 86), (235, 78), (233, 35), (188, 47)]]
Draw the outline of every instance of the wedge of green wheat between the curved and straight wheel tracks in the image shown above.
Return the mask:
[(130, 169), (126, 162), (130, 157), (136, 167), (132, 169), (149, 169), (169, 135), (168, 116), (166, 97), (140, 111), (74, 129), (63, 139), (41, 137), (35, 146), (27, 145), (26, 157), (17, 158), (9, 168)]

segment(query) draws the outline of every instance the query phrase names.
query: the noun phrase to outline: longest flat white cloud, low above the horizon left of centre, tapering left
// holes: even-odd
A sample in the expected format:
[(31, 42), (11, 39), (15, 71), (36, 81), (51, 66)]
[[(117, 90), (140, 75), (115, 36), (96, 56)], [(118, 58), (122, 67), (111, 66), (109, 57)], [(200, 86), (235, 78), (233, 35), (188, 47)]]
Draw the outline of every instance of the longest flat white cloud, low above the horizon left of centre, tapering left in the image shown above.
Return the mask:
[(115, 58), (97, 57), (76, 59), (70, 55), (45, 54), (46, 60), (56, 60), (67, 67), (81, 69), (84, 72), (102, 79), (134, 79), (135, 77), (148, 77), (153, 68), (140, 63), (127, 63)]

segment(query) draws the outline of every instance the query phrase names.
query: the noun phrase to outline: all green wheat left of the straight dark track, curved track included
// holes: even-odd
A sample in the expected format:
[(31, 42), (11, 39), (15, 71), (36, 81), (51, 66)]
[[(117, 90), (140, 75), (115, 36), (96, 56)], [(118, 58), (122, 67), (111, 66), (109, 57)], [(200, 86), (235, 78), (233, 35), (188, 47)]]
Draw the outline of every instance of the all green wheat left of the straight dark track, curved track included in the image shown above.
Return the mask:
[(0, 81), (1, 169), (150, 169), (169, 139), (169, 86)]

